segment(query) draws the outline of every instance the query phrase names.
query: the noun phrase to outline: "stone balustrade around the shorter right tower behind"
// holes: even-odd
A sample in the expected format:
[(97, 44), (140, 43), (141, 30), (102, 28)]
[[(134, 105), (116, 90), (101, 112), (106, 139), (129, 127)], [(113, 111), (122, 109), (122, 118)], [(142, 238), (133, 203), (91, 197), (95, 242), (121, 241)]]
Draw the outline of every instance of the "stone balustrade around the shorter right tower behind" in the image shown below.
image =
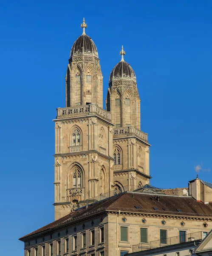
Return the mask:
[(140, 131), (134, 126), (128, 126), (128, 127), (121, 127), (121, 128), (113, 128), (113, 135), (114, 137), (126, 137), (126, 136), (136, 136), (139, 137), (141, 140), (144, 140), (147, 142), (147, 134), (143, 131)]

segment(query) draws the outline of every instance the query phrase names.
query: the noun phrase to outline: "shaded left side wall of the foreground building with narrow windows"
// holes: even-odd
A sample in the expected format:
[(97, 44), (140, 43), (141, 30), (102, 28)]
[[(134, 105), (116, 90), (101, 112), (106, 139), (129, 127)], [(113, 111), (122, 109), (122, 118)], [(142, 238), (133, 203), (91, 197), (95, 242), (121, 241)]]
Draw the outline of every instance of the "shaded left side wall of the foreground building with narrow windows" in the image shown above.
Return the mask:
[[(104, 227), (105, 240), (103, 243), (100, 242), (99, 229)], [(90, 230), (95, 230), (95, 245), (90, 244)], [(43, 236), (38, 236), (25, 242), (25, 256), (27, 251), (31, 249), (31, 256), (34, 255), (34, 248), (38, 248), (38, 256), (42, 256), (41, 250), (42, 245), (45, 245), (45, 256), (49, 256), (49, 244), (53, 243), (53, 255), (58, 255), (57, 253), (57, 241), (61, 241), (61, 255), (65, 254), (65, 239), (69, 239), (69, 254), (67, 255), (90, 255), (90, 253), (96, 253), (99, 256), (99, 252), (104, 250), (105, 256), (109, 256), (108, 253), (108, 224), (107, 215), (103, 215), (96, 218), (90, 218), (84, 222), (76, 225), (71, 225), (62, 230), (57, 230), (52, 233), (45, 234)], [(82, 233), (86, 233), (86, 247), (82, 248)], [(77, 250), (72, 252), (73, 248), (73, 236), (77, 236)], [(36, 243), (37, 240), (37, 243)], [(30, 244), (29, 244), (30, 243)], [(66, 255), (66, 254), (65, 254)]]

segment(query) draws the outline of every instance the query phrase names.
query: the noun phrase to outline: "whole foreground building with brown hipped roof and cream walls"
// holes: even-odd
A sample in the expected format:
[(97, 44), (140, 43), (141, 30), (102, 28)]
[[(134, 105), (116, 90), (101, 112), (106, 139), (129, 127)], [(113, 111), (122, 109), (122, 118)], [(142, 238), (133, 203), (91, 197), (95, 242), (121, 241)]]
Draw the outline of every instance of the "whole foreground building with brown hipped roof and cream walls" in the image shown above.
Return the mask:
[(158, 247), (165, 252), (172, 244), (204, 239), (211, 229), (212, 209), (192, 196), (123, 192), (20, 240), (25, 256), (123, 256)]

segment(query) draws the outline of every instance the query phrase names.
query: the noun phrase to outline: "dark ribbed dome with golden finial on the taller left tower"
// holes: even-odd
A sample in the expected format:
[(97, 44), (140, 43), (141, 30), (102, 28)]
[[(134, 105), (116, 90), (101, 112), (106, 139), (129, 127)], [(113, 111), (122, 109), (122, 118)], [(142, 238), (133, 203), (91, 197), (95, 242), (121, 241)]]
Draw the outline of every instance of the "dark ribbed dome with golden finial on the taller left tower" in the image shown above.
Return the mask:
[(85, 28), (87, 28), (87, 24), (85, 24), (85, 19), (83, 18), (83, 23), (81, 24), (81, 28), (83, 28), (82, 35), (76, 39), (71, 48), (70, 58), (73, 56), (87, 55), (87, 56), (95, 56), (98, 58), (98, 52), (96, 49), (96, 45), (93, 40), (85, 34)]

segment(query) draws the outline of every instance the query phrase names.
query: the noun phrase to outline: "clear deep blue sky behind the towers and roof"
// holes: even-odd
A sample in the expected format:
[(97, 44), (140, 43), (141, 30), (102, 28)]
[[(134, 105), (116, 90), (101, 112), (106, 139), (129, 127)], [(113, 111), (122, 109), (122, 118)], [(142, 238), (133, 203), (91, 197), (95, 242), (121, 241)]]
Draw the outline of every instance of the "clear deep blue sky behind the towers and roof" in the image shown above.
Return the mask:
[(212, 1), (0, 1), (1, 255), (23, 256), (17, 239), (54, 220), (54, 122), (65, 106), (73, 42), (99, 52), (104, 100), (110, 71), (133, 67), (148, 133), (153, 186), (212, 182)]

